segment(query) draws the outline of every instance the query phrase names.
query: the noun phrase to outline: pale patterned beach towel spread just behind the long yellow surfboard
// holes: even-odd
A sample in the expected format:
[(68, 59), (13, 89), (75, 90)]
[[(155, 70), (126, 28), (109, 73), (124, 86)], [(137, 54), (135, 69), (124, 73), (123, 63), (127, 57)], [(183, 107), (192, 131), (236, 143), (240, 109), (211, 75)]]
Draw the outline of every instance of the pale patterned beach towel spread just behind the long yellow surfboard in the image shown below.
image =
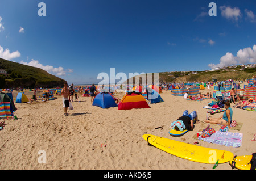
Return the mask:
[(230, 133), (216, 131), (210, 137), (202, 138), (198, 137), (199, 140), (203, 140), (209, 143), (218, 145), (233, 146), (234, 148), (242, 146), (242, 133)]

